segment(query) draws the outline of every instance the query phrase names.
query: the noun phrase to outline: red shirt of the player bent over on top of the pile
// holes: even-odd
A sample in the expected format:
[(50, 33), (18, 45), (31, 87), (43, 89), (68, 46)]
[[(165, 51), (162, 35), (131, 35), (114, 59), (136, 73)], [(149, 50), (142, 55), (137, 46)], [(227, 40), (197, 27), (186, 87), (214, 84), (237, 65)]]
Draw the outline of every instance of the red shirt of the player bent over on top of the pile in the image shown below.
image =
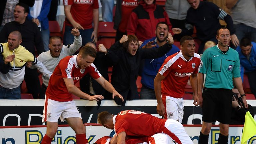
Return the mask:
[(152, 136), (161, 133), (165, 122), (166, 119), (135, 110), (121, 111), (113, 118), (116, 134), (125, 131), (128, 136)]

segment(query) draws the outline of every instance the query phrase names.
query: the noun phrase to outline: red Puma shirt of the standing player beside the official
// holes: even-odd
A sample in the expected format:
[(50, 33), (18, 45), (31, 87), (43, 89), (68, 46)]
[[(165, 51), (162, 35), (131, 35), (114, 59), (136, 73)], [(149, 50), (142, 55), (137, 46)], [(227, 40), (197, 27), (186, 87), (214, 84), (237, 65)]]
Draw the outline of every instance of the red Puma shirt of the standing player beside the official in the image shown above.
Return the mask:
[(182, 98), (188, 79), (191, 74), (198, 73), (200, 62), (200, 55), (197, 53), (189, 61), (184, 58), (181, 51), (168, 56), (159, 69), (159, 73), (165, 76), (161, 81), (161, 94)]

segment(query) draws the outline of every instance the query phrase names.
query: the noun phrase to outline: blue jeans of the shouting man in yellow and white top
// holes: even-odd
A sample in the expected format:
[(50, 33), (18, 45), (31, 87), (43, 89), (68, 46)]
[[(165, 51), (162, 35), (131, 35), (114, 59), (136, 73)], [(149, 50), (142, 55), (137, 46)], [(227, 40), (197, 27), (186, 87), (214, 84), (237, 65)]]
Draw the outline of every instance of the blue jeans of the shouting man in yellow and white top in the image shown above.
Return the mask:
[(0, 99), (21, 99), (20, 86), (13, 89), (0, 87)]

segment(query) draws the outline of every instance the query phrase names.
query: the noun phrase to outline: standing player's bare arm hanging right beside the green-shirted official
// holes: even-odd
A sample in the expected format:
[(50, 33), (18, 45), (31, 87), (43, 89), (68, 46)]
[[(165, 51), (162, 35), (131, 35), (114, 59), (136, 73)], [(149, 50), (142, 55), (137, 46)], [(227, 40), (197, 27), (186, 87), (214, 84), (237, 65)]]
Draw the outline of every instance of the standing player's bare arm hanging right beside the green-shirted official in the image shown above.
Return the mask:
[(193, 90), (193, 104), (195, 106), (198, 106), (199, 105), (199, 97), (198, 97), (198, 94), (197, 94), (197, 74), (192, 74), (190, 76), (190, 83), (191, 83), (191, 87), (192, 87), (192, 90)]

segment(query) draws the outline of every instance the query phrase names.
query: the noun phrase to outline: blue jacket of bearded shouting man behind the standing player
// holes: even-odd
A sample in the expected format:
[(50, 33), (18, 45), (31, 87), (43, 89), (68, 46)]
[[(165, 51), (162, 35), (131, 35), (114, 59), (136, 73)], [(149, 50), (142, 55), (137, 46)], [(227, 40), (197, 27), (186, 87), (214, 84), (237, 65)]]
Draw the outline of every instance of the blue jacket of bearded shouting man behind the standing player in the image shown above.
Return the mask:
[[(156, 37), (153, 37), (151, 39), (145, 40), (142, 43), (142, 45), (140, 46), (140, 48), (142, 48), (144, 45), (146, 45), (150, 41), (155, 41), (153, 43), (153, 45), (157, 44)], [(154, 48), (158, 48), (158, 47), (159, 46), (157, 45)], [(172, 45), (172, 49), (169, 52), (167, 52), (164, 56), (162, 56), (160, 58), (156, 58), (156, 59), (145, 59), (144, 68), (143, 68), (143, 71), (141, 74), (142, 85), (146, 86), (148, 88), (154, 89), (154, 79), (155, 79), (156, 74), (158, 73), (160, 67), (162, 66), (164, 60), (168, 56), (170, 56), (176, 52), (179, 52), (179, 51), (180, 51), (180, 49), (177, 46)]]

